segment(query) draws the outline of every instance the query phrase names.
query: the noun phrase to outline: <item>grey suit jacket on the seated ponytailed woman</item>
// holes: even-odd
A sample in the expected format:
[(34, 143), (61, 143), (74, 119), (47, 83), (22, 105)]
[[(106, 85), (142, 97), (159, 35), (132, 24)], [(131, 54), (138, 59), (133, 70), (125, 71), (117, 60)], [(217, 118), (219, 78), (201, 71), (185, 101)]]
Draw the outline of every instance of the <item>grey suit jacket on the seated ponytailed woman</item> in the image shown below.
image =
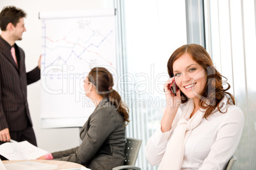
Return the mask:
[(97, 105), (80, 131), (79, 147), (52, 153), (55, 160), (83, 164), (93, 170), (111, 170), (124, 165), (124, 117), (107, 98)]

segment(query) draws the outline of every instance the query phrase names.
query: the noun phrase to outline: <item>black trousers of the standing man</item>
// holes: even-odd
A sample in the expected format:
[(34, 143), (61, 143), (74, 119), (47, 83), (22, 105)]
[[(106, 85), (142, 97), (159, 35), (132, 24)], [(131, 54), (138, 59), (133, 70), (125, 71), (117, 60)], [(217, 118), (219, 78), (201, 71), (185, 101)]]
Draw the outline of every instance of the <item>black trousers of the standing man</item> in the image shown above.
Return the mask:
[[(36, 135), (34, 134), (34, 130), (31, 126), (28, 126), (22, 131), (10, 131), (10, 136), (12, 140), (15, 141), (28, 141), (34, 146), (38, 146), (36, 143)], [(2, 145), (4, 141), (0, 141), (0, 145)], [(5, 157), (0, 155), (1, 160), (7, 160)]]

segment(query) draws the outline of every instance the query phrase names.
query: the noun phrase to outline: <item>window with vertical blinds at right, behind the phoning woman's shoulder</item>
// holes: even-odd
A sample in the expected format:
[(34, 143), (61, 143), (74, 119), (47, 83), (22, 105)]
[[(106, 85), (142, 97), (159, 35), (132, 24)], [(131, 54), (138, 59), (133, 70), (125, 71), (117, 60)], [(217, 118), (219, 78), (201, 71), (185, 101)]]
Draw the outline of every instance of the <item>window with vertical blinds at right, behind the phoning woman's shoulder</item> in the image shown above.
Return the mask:
[(204, 1), (206, 49), (231, 84), (230, 93), (245, 114), (245, 126), (233, 169), (256, 167), (255, 4), (248, 1)]

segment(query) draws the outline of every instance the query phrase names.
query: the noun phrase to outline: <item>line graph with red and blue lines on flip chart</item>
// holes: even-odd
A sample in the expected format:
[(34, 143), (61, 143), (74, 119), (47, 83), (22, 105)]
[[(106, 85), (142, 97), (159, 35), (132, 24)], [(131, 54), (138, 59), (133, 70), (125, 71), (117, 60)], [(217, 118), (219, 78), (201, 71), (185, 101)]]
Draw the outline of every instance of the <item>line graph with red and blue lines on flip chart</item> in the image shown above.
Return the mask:
[[(113, 30), (93, 29), (93, 25), (88, 20), (77, 20), (75, 28), (68, 30), (66, 34), (51, 35), (47, 32), (54, 32), (48, 29), (48, 24), (43, 22), (43, 68), (51, 65), (61, 65), (62, 63), (85, 63), (89, 67), (96, 65), (113, 65), (109, 50), (115, 47), (115, 36)], [(57, 32), (55, 32), (57, 33)], [(48, 35), (50, 34), (50, 35)], [(115, 51), (115, 50), (114, 50)], [(111, 54), (115, 56), (115, 54)], [(48, 57), (51, 56), (51, 57)], [(71, 61), (72, 60), (72, 61)], [(47, 61), (47, 62), (46, 62)], [(98, 62), (98, 63), (97, 63)]]

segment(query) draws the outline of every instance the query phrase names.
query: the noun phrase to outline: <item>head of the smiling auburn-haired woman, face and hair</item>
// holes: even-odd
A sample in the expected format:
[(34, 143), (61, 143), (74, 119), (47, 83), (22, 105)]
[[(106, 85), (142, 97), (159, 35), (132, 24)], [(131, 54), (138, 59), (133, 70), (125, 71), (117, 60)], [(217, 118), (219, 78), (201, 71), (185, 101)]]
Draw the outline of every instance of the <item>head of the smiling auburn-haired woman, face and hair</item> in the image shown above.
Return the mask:
[[(205, 118), (215, 110), (224, 95), (230, 96), (230, 104), (235, 105), (234, 96), (227, 92), (231, 86), (226, 81), (222, 82), (224, 76), (215, 69), (210, 55), (202, 46), (190, 44), (176, 49), (169, 58), (167, 68), (169, 76), (175, 76), (176, 83), (179, 83), (177, 85), (183, 97), (181, 103), (187, 102), (188, 98), (198, 100), (194, 101), (195, 109), (207, 108)], [(227, 84), (227, 88), (224, 89), (223, 83)]]

